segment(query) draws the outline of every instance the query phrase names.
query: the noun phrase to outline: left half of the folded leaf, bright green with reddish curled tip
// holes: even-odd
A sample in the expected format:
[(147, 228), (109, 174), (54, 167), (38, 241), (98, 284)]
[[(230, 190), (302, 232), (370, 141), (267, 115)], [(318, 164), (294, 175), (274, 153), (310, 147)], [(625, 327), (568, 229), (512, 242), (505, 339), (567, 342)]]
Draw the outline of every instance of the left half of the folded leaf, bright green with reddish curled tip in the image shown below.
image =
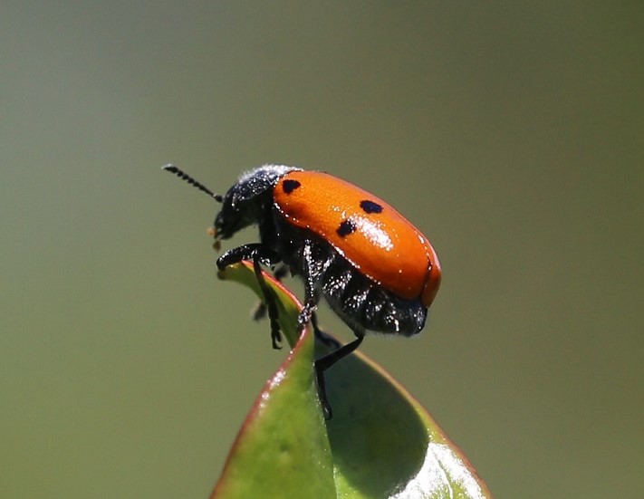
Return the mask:
[[(243, 283), (261, 296), (252, 267), (231, 265), (223, 279)], [(313, 335), (297, 338), (299, 303), (266, 276), (278, 294), (280, 326), (291, 353), (255, 400), (212, 498), (334, 498), (329, 438), (313, 379)]]

